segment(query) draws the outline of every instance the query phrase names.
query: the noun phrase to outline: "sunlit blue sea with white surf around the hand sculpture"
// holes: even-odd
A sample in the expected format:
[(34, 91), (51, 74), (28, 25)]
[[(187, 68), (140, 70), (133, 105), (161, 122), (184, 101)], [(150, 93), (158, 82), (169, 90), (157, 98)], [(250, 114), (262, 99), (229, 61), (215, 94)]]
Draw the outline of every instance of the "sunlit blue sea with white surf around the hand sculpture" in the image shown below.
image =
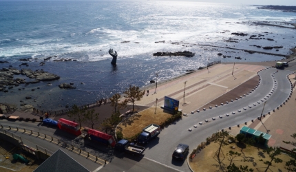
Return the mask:
[[(149, 86), (150, 80), (156, 80), (156, 74), (158, 81), (167, 80), (212, 61), (277, 61), (283, 57), (242, 50), (290, 54), (290, 48), (296, 46), (296, 30), (291, 23), (296, 23), (293, 12), (226, 3), (0, 1), (0, 61), (8, 61), (0, 63), (0, 69), (9, 66), (43, 69), (61, 76), (60, 80), (0, 92), (0, 103), (19, 107), (19, 101), (23, 100), (38, 109), (63, 109), (66, 105), (85, 105), (122, 94), (129, 85)], [(232, 32), (264, 34), (264, 38), (275, 41), (253, 40)], [(283, 48), (264, 50), (253, 45)], [(110, 64), (110, 48), (118, 52), (116, 67)], [(185, 50), (195, 56), (152, 55)], [(218, 56), (219, 52), (229, 57)], [(50, 61), (39, 65), (49, 56)], [(235, 59), (237, 56), (242, 60)], [(33, 60), (28, 67), (20, 67), (23, 63), (20, 58)], [(75, 61), (54, 61), (62, 58)], [(60, 83), (74, 83), (76, 89), (60, 89), (57, 86)], [(40, 89), (32, 92), (36, 87)], [(25, 96), (32, 96), (32, 100), (25, 100)]]

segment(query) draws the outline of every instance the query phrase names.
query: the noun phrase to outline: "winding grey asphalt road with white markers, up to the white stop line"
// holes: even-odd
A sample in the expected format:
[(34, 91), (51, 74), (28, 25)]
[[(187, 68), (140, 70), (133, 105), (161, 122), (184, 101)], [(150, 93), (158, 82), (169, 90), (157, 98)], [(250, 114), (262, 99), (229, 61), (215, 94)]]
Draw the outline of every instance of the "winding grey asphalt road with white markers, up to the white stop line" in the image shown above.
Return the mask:
[[(171, 159), (171, 154), (179, 143), (189, 144), (189, 149), (193, 150), (212, 133), (260, 116), (266, 100), (263, 114), (276, 109), (280, 104), (284, 103), (290, 94), (291, 86), (286, 78), (286, 75), (290, 73), (292, 72), (287, 70), (277, 72), (275, 68), (259, 72), (261, 77), (260, 85), (251, 94), (242, 93), (242, 98), (234, 100), (232, 103), (224, 103), (224, 105), (206, 111), (200, 109), (199, 113), (190, 114), (176, 122), (176, 124), (169, 125), (169, 127), (162, 130), (158, 139), (147, 144), (145, 157), (180, 171), (190, 171), (187, 162)], [(229, 102), (231, 101), (229, 100)], [(246, 110), (243, 109), (244, 107), (246, 107)], [(238, 112), (238, 109), (241, 112)], [(235, 114), (232, 114), (232, 112), (235, 112)], [(229, 114), (229, 116), (225, 114)], [(222, 118), (219, 118), (219, 116), (222, 116)], [(215, 120), (212, 120), (212, 118), (215, 118)], [(209, 120), (209, 122), (204, 120)], [(199, 125), (199, 122), (202, 122), (202, 125)], [(198, 127), (194, 128), (194, 125)], [(189, 131), (189, 128), (192, 131)]]

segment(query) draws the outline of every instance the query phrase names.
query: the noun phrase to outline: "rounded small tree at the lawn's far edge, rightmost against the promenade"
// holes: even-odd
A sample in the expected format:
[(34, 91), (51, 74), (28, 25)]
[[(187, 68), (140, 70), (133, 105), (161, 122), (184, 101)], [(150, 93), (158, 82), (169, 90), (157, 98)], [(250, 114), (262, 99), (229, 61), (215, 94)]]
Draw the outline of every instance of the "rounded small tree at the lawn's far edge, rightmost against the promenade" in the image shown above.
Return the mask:
[(136, 86), (132, 86), (129, 85), (129, 88), (125, 90), (124, 92), (125, 94), (125, 103), (132, 103), (133, 105), (133, 111), (135, 110), (135, 102), (136, 100), (141, 100), (141, 98), (144, 96), (145, 94), (145, 90), (144, 91), (140, 91), (139, 87)]

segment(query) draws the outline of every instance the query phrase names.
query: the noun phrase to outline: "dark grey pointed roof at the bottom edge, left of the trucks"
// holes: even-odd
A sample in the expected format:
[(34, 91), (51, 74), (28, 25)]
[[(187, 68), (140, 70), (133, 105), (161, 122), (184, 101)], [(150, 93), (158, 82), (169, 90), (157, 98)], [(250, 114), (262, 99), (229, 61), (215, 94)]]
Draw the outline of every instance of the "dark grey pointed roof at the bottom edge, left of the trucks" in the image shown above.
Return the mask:
[(61, 149), (47, 158), (34, 172), (89, 172), (84, 166), (76, 162)]

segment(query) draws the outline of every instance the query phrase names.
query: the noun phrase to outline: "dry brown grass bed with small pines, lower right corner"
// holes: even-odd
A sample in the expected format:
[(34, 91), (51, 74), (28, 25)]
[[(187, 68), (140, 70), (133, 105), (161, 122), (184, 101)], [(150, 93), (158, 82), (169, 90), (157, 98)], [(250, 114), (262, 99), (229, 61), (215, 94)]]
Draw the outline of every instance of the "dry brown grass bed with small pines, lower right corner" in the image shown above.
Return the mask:
[(225, 131), (213, 133), (191, 152), (189, 164), (196, 172), (296, 171), (293, 151), (265, 147), (260, 139), (245, 138), (244, 134), (232, 137)]

